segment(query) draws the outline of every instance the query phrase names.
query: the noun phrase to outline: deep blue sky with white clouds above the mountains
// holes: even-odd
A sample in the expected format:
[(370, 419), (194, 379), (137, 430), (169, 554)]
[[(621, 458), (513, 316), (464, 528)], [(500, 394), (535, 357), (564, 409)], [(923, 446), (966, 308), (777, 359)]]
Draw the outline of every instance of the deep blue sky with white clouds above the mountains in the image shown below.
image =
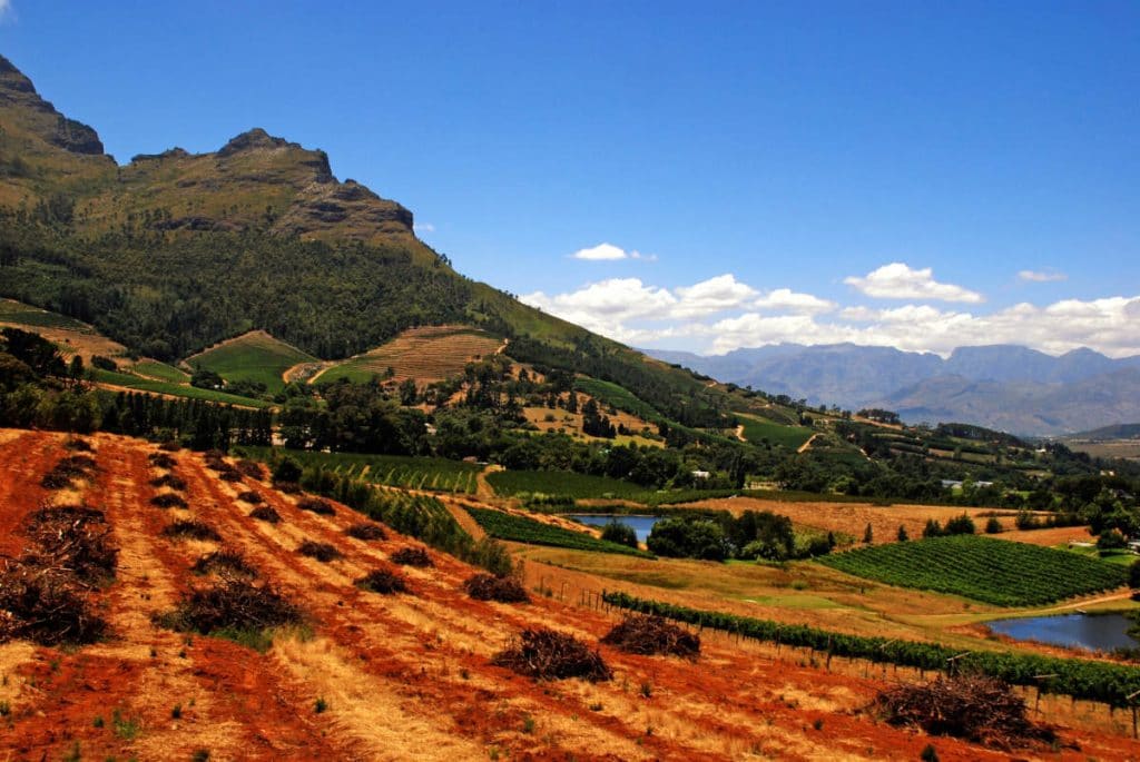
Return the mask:
[(1140, 353), (1135, 2), (0, 7), (120, 162), (263, 126), (629, 343)]

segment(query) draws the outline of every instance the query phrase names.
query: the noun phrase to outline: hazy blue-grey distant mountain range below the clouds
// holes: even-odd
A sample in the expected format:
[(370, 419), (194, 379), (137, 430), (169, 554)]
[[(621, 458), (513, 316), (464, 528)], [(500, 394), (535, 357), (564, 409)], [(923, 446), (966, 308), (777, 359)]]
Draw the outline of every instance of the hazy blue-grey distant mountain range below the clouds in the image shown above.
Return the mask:
[(649, 351), (740, 386), (812, 404), (895, 410), (909, 423), (961, 421), (1052, 436), (1140, 419), (1140, 355), (1089, 349), (963, 346), (945, 360), (891, 347), (775, 344), (702, 357)]

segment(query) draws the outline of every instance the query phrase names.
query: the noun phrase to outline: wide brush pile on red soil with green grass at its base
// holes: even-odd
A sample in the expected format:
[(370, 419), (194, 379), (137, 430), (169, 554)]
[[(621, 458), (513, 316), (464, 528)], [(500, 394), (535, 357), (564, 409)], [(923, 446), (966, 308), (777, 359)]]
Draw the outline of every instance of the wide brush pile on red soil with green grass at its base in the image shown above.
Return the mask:
[(301, 621), (301, 609), (275, 588), (235, 576), (225, 576), (210, 588), (192, 590), (182, 596), (174, 611), (155, 616), (155, 623), (161, 626), (201, 634), (264, 630)]

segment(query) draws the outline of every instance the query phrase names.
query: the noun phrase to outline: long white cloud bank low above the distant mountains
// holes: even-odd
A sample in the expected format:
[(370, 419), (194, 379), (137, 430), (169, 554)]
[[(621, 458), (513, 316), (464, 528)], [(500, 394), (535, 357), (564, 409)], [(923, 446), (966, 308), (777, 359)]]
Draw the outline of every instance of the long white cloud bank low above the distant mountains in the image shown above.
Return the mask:
[(1140, 296), (1024, 302), (978, 314), (920, 303), (840, 306), (789, 288), (760, 294), (725, 273), (671, 289), (612, 278), (522, 301), (620, 342), (714, 353), (781, 342), (852, 342), (944, 355), (983, 344), (1023, 344), (1052, 354), (1081, 346), (1110, 357), (1140, 354)]

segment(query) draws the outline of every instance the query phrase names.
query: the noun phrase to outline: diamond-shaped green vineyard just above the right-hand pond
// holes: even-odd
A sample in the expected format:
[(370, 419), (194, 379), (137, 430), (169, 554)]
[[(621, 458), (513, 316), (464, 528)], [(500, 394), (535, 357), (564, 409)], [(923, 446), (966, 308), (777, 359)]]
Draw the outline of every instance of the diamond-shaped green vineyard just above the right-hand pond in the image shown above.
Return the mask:
[(1112, 590), (1127, 581), (1121, 566), (972, 534), (860, 548), (817, 563), (887, 584), (995, 606), (1037, 606)]

